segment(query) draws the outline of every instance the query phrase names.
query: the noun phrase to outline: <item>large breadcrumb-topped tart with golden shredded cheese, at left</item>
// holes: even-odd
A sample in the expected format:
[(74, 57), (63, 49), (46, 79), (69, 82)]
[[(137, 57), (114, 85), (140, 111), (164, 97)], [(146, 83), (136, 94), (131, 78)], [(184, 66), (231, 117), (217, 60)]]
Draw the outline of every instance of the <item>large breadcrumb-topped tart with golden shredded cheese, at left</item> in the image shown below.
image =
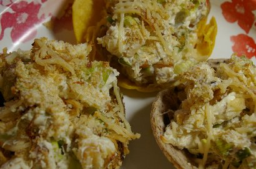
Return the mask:
[(0, 56), (1, 168), (118, 168), (130, 130), (119, 75), (89, 44), (35, 39)]

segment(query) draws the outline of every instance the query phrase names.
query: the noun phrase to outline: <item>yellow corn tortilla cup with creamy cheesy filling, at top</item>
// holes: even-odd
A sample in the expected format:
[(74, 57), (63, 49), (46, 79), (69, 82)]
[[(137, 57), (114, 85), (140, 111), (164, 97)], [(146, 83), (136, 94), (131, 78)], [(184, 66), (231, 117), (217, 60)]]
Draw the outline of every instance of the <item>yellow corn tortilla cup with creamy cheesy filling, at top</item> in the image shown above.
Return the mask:
[[(82, 3), (86, 6), (87, 1)], [(217, 24), (214, 17), (207, 24), (209, 1), (114, 0), (102, 4), (105, 9), (91, 5), (91, 11), (102, 14), (97, 24), (81, 25), (74, 31), (82, 36), (78, 42), (84, 39), (93, 44), (92, 59), (108, 60), (121, 72), (118, 84), (126, 89), (164, 89), (189, 67), (207, 60), (214, 48)], [(79, 17), (76, 13), (73, 6), (74, 27), (79, 27), (77, 22), (88, 17), (88, 11), (84, 15), (80, 11)]]

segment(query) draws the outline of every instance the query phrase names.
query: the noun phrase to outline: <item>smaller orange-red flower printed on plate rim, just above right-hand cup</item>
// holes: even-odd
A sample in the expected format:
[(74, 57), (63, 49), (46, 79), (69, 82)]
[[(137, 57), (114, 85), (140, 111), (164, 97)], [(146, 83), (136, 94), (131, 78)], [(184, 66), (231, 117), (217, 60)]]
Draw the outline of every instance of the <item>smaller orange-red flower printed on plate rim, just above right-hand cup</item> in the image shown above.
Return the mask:
[(237, 53), (238, 56), (246, 55), (248, 58), (256, 56), (256, 44), (252, 37), (246, 34), (239, 34), (237, 36), (231, 36), (231, 41), (234, 42), (232, 50)]

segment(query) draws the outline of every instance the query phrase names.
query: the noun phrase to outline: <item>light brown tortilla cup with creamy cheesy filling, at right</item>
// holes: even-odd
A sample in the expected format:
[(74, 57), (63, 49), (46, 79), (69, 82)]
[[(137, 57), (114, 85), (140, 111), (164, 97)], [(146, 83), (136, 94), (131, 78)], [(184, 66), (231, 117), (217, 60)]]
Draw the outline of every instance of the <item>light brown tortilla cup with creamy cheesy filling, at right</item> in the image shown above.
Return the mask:
[(201, 62), (152, 104), (155, 140), (176, 168), (255, 168), (255, 75), (246, 57)]

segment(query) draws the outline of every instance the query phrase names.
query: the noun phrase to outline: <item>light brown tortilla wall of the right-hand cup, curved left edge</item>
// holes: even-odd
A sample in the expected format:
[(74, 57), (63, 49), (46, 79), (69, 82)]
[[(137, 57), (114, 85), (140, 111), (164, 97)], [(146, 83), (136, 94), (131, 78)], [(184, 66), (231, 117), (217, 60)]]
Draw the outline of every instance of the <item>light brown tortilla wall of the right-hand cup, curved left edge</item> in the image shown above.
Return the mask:
[(164, 153), (165, 157), (174, 165), (176, 168), (197, 168), (192, 163), (189, 154), (184, 150), (180, 150), (173, 145), (166, 144), (162, 141), (161, 137), (164, 135), (166, 123), (165, 120), (168, 117), (163, 115), (169, 109), (174, 109), (175, 105), (178, 104), (179, 99), (174, 94), (174, 89), (162, 90), (157, 94), (150, 114), (150, 123), (152, 131), (154, 133), (155, 140), (159, 145), (160, 150)]

